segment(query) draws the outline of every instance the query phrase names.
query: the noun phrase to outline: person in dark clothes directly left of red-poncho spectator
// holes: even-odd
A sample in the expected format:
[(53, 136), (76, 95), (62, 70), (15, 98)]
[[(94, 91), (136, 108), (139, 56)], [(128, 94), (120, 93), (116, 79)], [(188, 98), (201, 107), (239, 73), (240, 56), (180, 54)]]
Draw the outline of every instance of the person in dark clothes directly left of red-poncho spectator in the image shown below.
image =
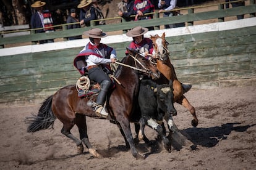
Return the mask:
[(135, 17), (130, 17), (130, 15), (135, 15), (134, 11), (134, 0), (122, 0), (117, 4), (118, 6), (118, 15), (127, 22), (134, 20)]

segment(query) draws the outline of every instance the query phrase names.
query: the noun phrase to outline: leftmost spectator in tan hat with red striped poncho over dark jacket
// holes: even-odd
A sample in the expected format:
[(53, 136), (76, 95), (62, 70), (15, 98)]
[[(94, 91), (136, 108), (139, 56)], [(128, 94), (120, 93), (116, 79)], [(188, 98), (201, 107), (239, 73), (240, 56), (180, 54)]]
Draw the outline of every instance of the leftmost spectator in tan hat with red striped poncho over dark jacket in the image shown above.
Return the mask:
[[(53, 19), (51, 18), (51, 13), (49, 10), (43, 10), (46, 2), (35, 1), (31, 5), (36, 11), (32, 14), (30, 25), (31, 28), (42, 28), (40, 30), (35, 30), (35, 33), (49, 33), (53, 32), (54, 28), (47, 28), (48, 26), (53, 26)], [(40, 40), (39, 44), (54, 42), (53, 39)]]

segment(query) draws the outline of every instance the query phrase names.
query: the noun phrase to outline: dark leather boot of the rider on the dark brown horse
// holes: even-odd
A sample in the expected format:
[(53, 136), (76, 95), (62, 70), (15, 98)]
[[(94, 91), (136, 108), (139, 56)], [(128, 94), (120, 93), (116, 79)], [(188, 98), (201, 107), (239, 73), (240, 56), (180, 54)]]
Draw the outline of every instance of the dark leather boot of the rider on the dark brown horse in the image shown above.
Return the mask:
[(98, 107), (95, 108), (95, 113), (96, 115), (101, 115), (103, 118), (106, 118), (108, 116), (108, 112), (106, 111), (104, 103), (106, 100), (108, 89), (111, 86), (111, 81), (103, 80), (100, 86), (101, 89), (96, 100)]

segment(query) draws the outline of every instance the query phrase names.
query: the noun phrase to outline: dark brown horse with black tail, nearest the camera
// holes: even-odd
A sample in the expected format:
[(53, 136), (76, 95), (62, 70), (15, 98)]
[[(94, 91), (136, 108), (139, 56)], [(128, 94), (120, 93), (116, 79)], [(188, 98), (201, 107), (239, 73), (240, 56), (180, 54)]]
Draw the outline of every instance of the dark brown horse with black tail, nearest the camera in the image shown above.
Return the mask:
[[(129, 51), (129, 55), (122, 59), (116, 70), (115, 77), (121, 84), (116, 83), (116, 87), (108, 95), (107, 110), (109, 116), (107, 119), (117, 121), (117, 125), (126, 140), (127, 147), (130, 147), (132, 155), (138, 159), (143, 158), (135, 149), (134, 140), (130, 131), (130, 122), (139, 121), (140, 115), (135, 115), (134, 108), (137, 103), (139, 92), (140, 77), (139, 74), (159, 78), (159, 72), (156, 67), (148, 60), (145, 60), (134, 51)], [(89, 99), (77, 97), (77, 89), (74, 85), (62, 87), (54, 95), (48, 97), (41, 105), (37, 116), (26, 118), (25, 122), (29, 123), (27, 131), (35, 132), (41, 129), (47, 129), (53, 126), (54, 120), (58, 118), (63, 127), (61, 133), (77, 144), (79, 153), (83, 152), (83, 144), (88, 151), (95, 157), (101, 156), (92, 147), (87, 135), (86, 116), (99, 118), (95, 115), (92, 107), (87, 105)], [(77, 125), (79, 128), (80, 139), (77, 139), (70, 129)], [(99, 134), (100, 135), (100, 134)], [(83, 144), (82, 144), (83, 143)]]

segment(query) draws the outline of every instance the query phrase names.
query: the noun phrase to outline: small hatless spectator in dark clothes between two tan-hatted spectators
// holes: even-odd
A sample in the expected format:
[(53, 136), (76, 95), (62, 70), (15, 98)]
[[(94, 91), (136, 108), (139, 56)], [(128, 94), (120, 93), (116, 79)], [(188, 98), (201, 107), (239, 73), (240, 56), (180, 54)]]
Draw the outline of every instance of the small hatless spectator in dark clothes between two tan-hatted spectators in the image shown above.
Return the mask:
[[(80, 24), (78, 23), (79, 19), (77, 19), (77, 12), (75, 12), (75, 9), (70, 9), (70, 15), (67, 17), (67, 23), (74, 23), (72, 25), (67, 25), (67, 30), (74, 29), (74, 28), (80, 28)], [(69, 40), (74, 40), (74, 39), (81, 39), (82, 36), (72, 36), (69, 37)]]

